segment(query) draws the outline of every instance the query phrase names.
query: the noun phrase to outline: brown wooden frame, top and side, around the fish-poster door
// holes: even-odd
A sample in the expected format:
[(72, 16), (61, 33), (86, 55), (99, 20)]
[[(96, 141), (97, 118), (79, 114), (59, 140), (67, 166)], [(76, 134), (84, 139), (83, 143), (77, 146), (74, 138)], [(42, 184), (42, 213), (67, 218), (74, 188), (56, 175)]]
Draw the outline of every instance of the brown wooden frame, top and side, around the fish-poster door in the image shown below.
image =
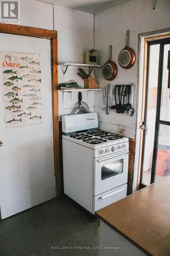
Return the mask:
[(61, 195), (61, 163), (59, 142), (59, 115), (58, 115), (58, 60), (57, 60), (57, 31), (32, 28), (18, 25), (0, 24), (0, 33), (30, 36), (51, 40), (52, 59), (52, 102), (53, 102), (53, 136), (54, 136), (54, 164), (56, 177), (56, 196)]

